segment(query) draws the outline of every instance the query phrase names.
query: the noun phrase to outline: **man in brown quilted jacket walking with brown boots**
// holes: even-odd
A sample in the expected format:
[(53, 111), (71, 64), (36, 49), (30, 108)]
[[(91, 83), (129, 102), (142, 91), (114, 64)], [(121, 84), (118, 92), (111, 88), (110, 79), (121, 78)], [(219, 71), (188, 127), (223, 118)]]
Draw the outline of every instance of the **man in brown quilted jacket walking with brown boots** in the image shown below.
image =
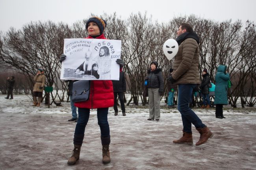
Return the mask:
[(213, 136), (209, 128), (202, 123), (200, 118), (189, 108), (189, 100), (193, 89), (200, 84), (199, 78), (199, 37), (191, 25), (182, 23), (177, 31), (179, 49), (175, 56), (174, 72), (168, 81), (178, 85), (178, 110), (182, 117), (183, 136), (173, 143), (193, 144), (191, 125), (193, 124), (200, 133), (196, 146), (206, 143)]

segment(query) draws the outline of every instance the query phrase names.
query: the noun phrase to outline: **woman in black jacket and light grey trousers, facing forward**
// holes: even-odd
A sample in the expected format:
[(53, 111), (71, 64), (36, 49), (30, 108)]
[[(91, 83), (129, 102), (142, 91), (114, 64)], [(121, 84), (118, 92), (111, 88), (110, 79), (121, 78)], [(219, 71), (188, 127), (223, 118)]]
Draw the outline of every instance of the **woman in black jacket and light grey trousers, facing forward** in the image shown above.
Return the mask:
[(163, 95), (163, 72), (158, 68), (158, 62), (150, 63), (148, 76), (146, 77), (148, 87), (148, 120), (159, 121), (160, 119), (160, 99)]

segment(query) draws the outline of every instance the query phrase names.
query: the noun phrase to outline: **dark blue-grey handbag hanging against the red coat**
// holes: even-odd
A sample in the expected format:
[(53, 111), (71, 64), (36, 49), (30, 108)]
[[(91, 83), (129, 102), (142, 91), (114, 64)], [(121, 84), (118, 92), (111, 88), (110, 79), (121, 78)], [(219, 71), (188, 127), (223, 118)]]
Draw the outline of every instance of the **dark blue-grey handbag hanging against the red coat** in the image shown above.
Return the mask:
[(73, 83), (72, 101), (87, 101), (90, 97), (91, 80), (79, 80)]

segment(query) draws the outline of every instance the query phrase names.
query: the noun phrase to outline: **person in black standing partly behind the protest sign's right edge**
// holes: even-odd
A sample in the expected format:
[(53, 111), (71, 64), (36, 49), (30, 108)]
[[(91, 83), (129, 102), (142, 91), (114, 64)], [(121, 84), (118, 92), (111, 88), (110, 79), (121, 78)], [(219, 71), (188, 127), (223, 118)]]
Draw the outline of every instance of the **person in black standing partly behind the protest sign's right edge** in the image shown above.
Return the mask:
[(125, 114), (125, 107), (124, 107), (124, 92), (126, 92), (126, 81), (124, 77), (124, 72), (122, 71), (122, 67), (120, 67), (119, 72), (119, 80), (112, 80), (113, 83), (113, 90), (114, 90), (114, 110), (115, 116), (118, 115), (117, 109), (117, 95), (120, 100), (121, 109), (122, 109), (122, 116), (126, 116)]

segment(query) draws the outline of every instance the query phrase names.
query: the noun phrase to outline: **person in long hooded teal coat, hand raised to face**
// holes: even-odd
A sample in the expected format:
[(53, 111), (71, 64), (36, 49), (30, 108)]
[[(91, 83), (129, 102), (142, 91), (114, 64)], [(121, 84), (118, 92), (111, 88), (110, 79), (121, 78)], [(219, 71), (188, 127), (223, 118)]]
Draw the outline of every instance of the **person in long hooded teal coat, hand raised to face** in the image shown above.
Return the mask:
[(228, 105), (228, 80), (230, 80), (230, 75), (226, 72), (226, 69), (226, 65), (219, 65), (215, 76), (215, 116), (219, 119), (225, 118), (223, 116), (223, 105)]

